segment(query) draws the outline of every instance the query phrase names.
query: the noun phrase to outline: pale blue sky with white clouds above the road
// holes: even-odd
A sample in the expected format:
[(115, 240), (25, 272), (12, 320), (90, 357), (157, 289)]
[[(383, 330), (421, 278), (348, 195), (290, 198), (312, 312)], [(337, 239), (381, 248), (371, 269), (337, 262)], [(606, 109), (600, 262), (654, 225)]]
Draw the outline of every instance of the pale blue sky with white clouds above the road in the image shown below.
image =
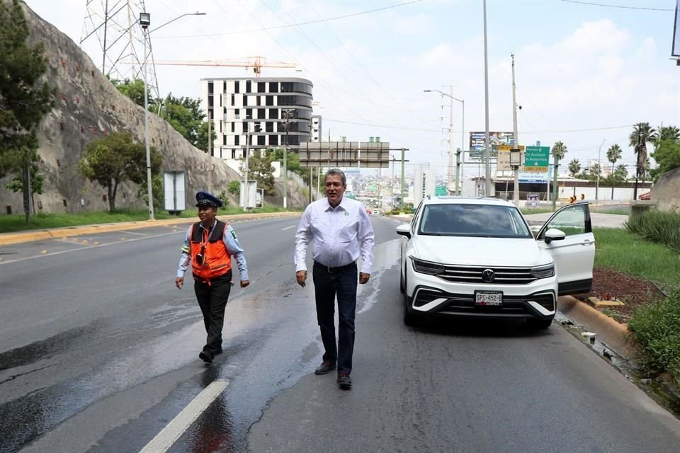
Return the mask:
[[(91, 0), (104, 4), (106, 0)], [(42, 18), (81, 40), (85, 0), (27, 0)], [(108, 0), (108, 4), (122, 4)], [(254, 55), (297, 69), (314, 83), (324, 136), (380, 136), (409, 148), (409, 165), (446, 172), (449, 99), (465, 99), (465, 136), (485, 129), (480, 0), (130, 0), (145, 4), (155, 59), (242, 60)], [(589, 164), (603, 140), (635, 163), (628, 134), (636, 122), (680, 126), (680, 67), (670, 60), (675, 0), (489, 0), (490, 130), (512, 130), (515, 55), (519, 142), (564, 142), (567, 159)], [(103, 10), (103, 6), (98, 6)], [(378, 10), (378, 11), (372, 11)], [(96, 40), (84, 45), (101, 62)], [(240, 67), (157, 67), (162, 95), (198, 97), (199, 79), (247, 76)], [(443, 106), (443, 107), (442, 107)], [(453, 105), (460, 147), (461, 104)], [(466, 146), (467, 148), (467, 146)], [(604, 163), (606, 165), (606, 162)], [(476, 173), (469, 166), (466, 173)]]

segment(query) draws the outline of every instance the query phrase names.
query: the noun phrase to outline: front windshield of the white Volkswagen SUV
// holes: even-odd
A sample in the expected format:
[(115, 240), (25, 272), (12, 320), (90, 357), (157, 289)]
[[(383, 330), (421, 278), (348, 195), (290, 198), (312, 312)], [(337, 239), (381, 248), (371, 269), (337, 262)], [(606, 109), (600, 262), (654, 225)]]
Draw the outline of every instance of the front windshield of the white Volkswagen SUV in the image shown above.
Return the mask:
[(421, 217), (419, 234), (495, 238), (533, 237), (515, 207), (462, 203), (427, 205)]

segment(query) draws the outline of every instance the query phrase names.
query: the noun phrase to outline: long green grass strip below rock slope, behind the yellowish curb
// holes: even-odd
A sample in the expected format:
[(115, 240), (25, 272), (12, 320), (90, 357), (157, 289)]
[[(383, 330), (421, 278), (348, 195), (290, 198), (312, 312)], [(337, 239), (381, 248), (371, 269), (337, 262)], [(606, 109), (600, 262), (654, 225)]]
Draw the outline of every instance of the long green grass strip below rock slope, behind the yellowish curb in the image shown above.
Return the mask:
[[(261, 212), (284, 212), (280, 207), (265, 206), (256, 210), (254, 213)], [(219, 215), (243, 214), (239, 207), (225, 207), (218, 211)], [(196, 210), (186, 210), (181, 213), (181, 218), (196, 217)], [(154, 212), (157, 219), (176, 219), (166, 211)], [(115, 222), (135, 222), (147, 220), (149, 213), (147, 210), (117, 210), (116, 212), (82, 212), (80, 214), (36, 214), (30, 217), (30, 223), (26, 223), (23, 215), (2, 215), (0, 216), (0, 233), (11, 233), (14, 231), (25, 231), (31, 229), (60, 228), (63, 226), (79, 226), (93, 224), (110, 224)]]

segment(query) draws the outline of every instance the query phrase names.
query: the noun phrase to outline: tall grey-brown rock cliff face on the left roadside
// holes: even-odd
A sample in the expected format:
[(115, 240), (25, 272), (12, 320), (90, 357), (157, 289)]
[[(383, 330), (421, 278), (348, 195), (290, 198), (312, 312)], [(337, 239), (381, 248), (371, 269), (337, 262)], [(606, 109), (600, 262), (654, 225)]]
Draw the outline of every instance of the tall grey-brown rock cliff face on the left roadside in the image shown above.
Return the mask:
[[(88, 142), (112, 132), (130, 132), (134, 139), (143, 142), (144, 109), (119, 93), (76, 43), (27, 6), (24, 10), (31, 26), (30, 40), (45, 44), (48, 60), (45, 79), (57, 88), (55, 108), (43, 119), (38, 134), (45, 190), (42, 195), (35, 194), (35, 212), (107, 210), (106, 190), (80, 176), (77, 164)], [(193, 194), (197, 190), (220, 193), (229, 180), (238, 179), (238, 174), (220, 159), (210, 158), (191, 146), (152, 113), (149, 137), (152, 146), (163, 155), (161, 173), (185, 171), (188, 209), (193, 209)], [(18, 214), (23, 212), (21, 193), (5, 188), (9, 179), (0, 180), (0, 209), (3, 214), (9, 210)], [(139, 187), (134, 183), (120, 185), (116, 207), (145, 207)]]

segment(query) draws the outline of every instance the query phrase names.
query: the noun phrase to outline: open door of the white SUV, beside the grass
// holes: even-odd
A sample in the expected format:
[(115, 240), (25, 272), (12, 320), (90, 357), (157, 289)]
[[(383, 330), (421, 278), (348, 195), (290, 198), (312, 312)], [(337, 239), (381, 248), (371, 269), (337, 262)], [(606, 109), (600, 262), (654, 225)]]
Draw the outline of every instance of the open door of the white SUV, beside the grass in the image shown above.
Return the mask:
[[(546, 241), (545, 236), (550, 229), (563, 231), (565, 238)], [(557, 210), (538, 231), (536, 240), (541, 248), (553, 256), (560, 296), (590, 292), (593, 284), (595, 236), (587, 202), (567, 205)]]

